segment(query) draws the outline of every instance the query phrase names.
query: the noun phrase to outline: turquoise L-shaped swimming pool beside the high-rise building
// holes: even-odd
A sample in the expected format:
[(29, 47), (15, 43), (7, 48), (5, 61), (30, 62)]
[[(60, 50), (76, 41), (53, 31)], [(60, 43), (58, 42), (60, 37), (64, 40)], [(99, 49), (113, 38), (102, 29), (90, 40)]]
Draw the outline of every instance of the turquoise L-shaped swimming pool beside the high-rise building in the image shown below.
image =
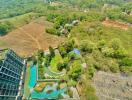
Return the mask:
[[(37, 83), (37, 68), (35, 65), (30, 66), (30, 80), (29, 80), (29, 88), (33, 89), (33, 87)], [(47, 91), (52, 90), (51, 93), (47, 93)], [(32, 91), (30, 94), (31, 98), (38, 98), (38, 99), (55, 99), (59, 96), (59, 94), (63, 94), (65, 92), (65, 88), (57, 90), (56, 83), (53, 86), (46, 85), (42, 92)]]

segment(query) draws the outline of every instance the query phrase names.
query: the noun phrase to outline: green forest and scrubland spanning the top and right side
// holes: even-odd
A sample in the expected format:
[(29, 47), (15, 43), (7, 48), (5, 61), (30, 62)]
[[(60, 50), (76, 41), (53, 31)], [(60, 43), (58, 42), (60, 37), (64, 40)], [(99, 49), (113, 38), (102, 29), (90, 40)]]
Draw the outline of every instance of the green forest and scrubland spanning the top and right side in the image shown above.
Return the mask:
[[(6, 2), (5, 2), (6, 1)], [(132, 24), (131, 0), (0, 0), (0, 36), (45, 16), (53, 27), (46, 32), (73, 40), (87, 63), (79, 82), (82, 100), (97, 100), (91, 85), (98, 70), (132, 74), (132, 28), (107, 27), (105, 19)], [(63, 51), (62, 51), (63, 52)]]

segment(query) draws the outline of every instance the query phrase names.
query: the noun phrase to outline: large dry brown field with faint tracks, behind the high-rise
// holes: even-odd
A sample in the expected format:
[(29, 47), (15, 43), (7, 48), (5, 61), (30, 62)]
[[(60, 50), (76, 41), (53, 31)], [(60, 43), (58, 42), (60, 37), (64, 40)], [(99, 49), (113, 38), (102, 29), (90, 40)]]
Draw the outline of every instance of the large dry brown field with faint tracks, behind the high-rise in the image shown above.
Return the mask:
[(45, 28), (52, 23), (39, 18), (22, 27), (17, 27), (12, 32), (0, 37), (0, 49), (12, 48), (21, 56), (31, 55), (37, 49), (48, 49), (57, 46), (64, 39), (45, 32)]

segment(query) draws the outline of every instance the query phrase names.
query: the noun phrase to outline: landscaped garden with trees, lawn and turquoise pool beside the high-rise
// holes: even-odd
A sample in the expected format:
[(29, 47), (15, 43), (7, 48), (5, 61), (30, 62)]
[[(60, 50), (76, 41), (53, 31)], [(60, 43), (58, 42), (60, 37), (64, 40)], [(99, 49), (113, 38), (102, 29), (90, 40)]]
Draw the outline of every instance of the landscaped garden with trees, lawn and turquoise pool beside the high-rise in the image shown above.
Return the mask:
[(47, 52), (39, 50), (28, 68), (30, 94), (25, 98), (72, 98), (70, 87), (77, 84), (82, 63), (80, 50), (74, 47), (73, 41), (60, 44), (56, 49), (49, 47)]

